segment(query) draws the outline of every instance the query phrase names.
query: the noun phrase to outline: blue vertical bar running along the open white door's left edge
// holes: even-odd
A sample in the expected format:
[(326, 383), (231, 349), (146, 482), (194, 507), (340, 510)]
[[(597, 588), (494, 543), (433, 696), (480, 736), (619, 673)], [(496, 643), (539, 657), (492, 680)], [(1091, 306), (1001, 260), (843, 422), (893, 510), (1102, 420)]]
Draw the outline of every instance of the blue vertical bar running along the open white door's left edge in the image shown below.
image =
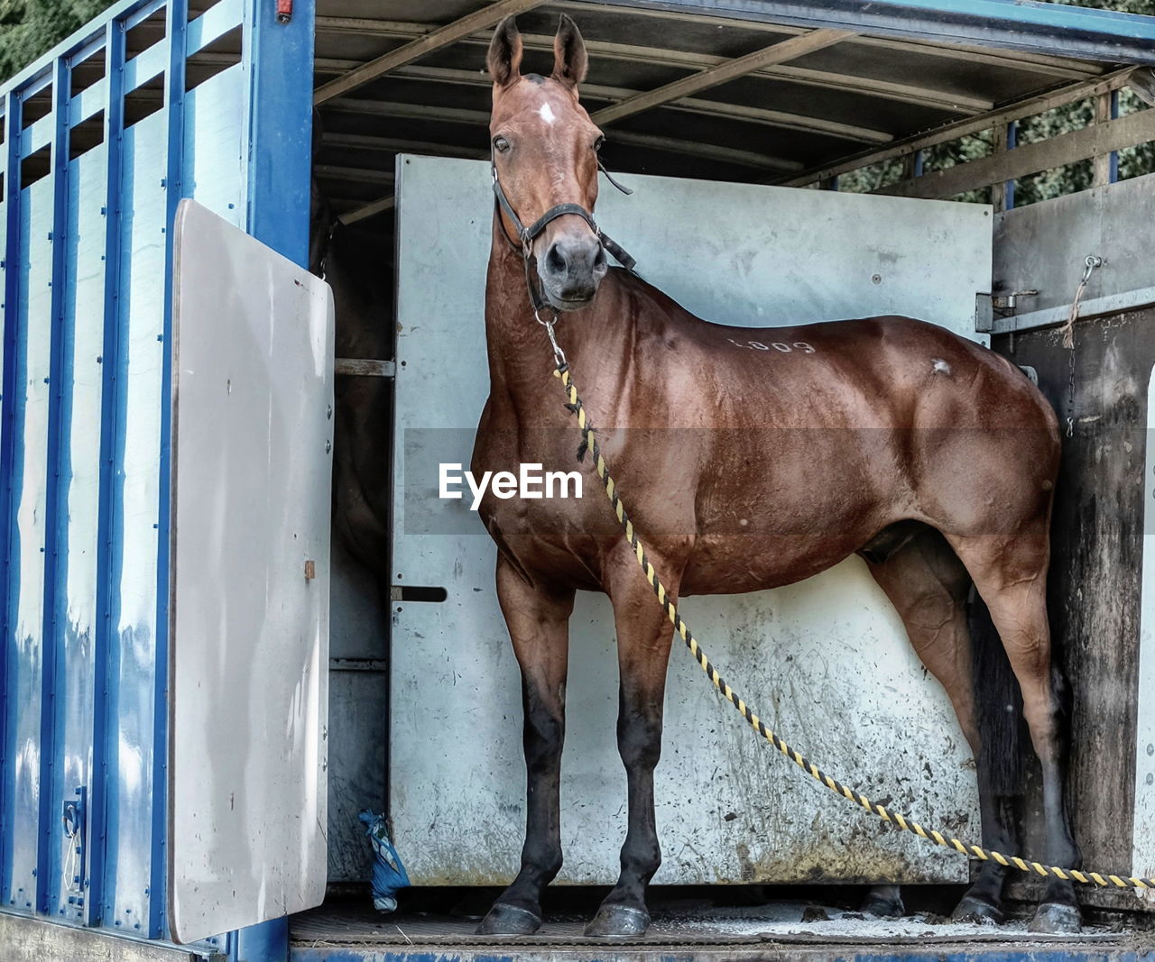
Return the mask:
[(165, 35), (169, 38), (169, 68), (165, 72), (164, 105), (167, 111), (167, 159), (165, 164), (165, 278), (164, 333), (167, 350), (161, 374), (161, 504), (157, 519), (156, 565), (156, 709), (152, 716), (152, 864), (149, 885), (149, 937), (165, 935), (167, 916), (165, 896), (167, 824), (169, 824), (169, 562), (172, 493), (172, 298), (173, 298), (173, 224), (177, 206), (185, 196), (185, 63), (188, 32), (188, 0), (169, 0)]

